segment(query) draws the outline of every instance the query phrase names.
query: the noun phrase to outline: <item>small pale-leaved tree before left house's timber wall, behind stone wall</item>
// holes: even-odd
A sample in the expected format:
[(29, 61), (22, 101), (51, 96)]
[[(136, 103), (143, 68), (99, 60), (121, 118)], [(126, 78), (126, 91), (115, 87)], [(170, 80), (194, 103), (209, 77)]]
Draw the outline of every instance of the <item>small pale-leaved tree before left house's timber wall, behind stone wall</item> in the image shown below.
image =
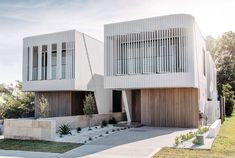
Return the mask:
[(47, 99), (42, 95), (39, 99), (39, 116), (40, 117), (48, 117), (49, 116), (49, 103)]

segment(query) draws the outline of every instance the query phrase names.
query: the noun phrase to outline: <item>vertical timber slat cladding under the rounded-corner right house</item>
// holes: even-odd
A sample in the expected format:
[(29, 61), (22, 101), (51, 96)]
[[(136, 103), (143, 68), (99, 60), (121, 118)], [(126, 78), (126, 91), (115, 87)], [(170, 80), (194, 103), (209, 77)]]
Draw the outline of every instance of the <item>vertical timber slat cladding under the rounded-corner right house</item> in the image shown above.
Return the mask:
[(141, 123), (160, 127), (198, 127), (198, 89), (142, 89)]

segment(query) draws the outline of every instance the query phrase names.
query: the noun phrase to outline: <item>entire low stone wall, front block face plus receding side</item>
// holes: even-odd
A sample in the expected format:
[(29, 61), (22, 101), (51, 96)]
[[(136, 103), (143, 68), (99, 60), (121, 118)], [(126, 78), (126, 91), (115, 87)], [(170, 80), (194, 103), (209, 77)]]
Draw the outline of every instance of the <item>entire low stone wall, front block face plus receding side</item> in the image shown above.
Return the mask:
[[(117, 121), (123, 120), (124, 113), (96, 114), (91, 119), (91, 126), (100, 125), (102, 120), (108, 121), (114, 117)], [(69, 124), (72, 129), (87, 127), (88, 117), (85, 115), (51, 117), (43, 119), (5, 119), (4, 138), (54, 140), (56, 131), (62, 124)]]

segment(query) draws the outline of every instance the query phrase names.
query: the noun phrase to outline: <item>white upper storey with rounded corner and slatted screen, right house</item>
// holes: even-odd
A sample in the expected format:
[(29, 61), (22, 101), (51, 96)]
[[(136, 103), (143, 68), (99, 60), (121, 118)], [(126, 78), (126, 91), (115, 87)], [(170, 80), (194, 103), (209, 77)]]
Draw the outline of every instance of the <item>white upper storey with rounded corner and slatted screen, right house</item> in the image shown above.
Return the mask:
[(105, 88), (199, 87), (206, 51), (194, 18), (177, 14), (104, 27)]

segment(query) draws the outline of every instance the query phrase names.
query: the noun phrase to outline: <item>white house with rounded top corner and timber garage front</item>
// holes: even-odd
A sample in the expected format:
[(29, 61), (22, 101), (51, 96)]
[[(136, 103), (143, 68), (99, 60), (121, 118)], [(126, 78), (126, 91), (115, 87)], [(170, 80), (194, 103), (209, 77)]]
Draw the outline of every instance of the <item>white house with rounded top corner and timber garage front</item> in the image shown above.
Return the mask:
[(191, 15), (106, 24), (104, 45), (104, 86), (122, 93), (130, 122), (198, 127), (217, 100), (215, 64)]

